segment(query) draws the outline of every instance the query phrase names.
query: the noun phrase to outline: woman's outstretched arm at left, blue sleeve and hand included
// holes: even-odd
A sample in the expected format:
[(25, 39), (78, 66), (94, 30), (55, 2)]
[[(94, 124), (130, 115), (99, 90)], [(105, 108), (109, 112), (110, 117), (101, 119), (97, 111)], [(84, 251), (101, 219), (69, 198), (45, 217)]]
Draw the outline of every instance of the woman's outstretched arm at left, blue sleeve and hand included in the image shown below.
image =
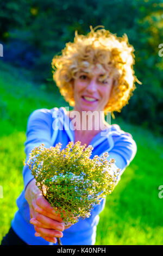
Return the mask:
[[(37, 109), (30, 114), (26, 132), (27, 139), (24, 143), (27, 159), (30, 151), (36, 146), (44, 143), (47, 148), (51, 147), (52, 121), (49, 109)], [(57, 242), (55, 237), (62, 237), (61, 231), (71, 227), (71, 223), (65, 226), (60, 215), (56, 214), (42, 196), (27, 165), (23, 168), (23, 179), (25, 197), (30, 209), (30, 223), (34, 224), (35, 236), (41, 236), (48, 242)]]

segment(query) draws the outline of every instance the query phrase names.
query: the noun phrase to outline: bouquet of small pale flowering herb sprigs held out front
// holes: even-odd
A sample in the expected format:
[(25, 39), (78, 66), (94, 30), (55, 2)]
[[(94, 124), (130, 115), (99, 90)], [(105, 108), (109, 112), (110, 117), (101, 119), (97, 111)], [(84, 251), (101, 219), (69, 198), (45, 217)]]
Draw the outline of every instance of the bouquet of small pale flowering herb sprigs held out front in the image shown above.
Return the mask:
[(24, 161), (32, 170), (36, 186), (65, 224), (89, 217), (93, 206), (114, 190), (120, 175), (120, 169), (112, 168), (115, 160), (107, 160), (108, 153), (90, 159), (92, 149), (79, 141), (69, 142), (62, 150), (61, 143), (50, 148), (40, 144)]

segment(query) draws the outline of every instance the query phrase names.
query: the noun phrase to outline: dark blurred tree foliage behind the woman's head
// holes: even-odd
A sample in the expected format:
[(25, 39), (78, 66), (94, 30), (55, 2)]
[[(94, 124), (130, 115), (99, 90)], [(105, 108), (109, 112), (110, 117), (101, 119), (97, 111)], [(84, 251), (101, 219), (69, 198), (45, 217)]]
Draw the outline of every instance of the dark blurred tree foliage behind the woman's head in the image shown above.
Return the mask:
[[(90, 26), (103, 25), (117, 36), (126, 33), (135, 48), (134, 70), (142, 85), (137, 84), (129, 105), (115, 117), (121, 115), (124, 120), (163, 133), (163, 62), (159, 55), (159, 45), (163, 44), (162, 0), (9, 0), (2, 1), (0, 9), (0, 40), (10, 44), (8, 60), (15, 54), (12, 63), (31, 68), (35, 80), (47, 83), (48, 89), (54, 86), (52, 58), (73, 40), (76, 30), (86, 34)], [(24, 50), (20, 45), (12, 48), (13, 40), (21, 41)]]

